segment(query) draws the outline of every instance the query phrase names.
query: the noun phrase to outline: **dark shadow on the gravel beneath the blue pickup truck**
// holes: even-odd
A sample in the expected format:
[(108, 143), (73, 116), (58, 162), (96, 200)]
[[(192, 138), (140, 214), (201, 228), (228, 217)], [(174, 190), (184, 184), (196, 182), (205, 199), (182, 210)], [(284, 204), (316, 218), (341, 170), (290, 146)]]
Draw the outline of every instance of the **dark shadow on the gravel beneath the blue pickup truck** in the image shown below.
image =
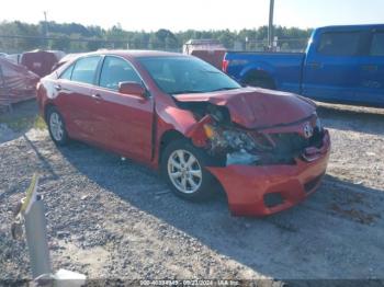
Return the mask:
[(317, 113), (329, 128), (384, 135), (384, 108), (319, 103)]

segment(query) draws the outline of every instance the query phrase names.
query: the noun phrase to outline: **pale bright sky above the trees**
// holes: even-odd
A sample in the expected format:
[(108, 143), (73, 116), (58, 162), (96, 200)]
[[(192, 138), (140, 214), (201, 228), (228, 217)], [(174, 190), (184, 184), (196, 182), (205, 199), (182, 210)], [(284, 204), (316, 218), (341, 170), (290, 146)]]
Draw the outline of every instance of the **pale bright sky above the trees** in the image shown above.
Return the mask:
[[(270, 0), (11, 0), (0, 21), (81, 23), (128, 31), (253, 28), (268, 24)], [(317, 27), (384, 23), (384, 0), (275, 0), (274, 24)]]

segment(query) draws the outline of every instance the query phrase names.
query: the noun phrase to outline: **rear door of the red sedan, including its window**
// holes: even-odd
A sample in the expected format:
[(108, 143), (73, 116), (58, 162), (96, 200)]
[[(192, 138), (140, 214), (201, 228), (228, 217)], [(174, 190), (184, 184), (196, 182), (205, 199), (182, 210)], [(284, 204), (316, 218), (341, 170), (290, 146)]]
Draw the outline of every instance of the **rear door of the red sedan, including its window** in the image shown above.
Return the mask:
[(95, 140), (95, 104), (92, 89), (101, 57), (78, 59), (68, 67), (54, 85), (56, 105), (61, 112), (69, 135), (87, 141)]

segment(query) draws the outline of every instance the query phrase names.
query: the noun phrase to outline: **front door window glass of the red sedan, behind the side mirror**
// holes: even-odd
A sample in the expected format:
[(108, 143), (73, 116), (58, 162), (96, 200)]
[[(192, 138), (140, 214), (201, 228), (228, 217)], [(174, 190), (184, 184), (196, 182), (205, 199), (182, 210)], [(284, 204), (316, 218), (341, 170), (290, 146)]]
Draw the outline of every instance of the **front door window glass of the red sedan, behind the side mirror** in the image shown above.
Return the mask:
[(105, 57), (100, 74), (100, 87), (118, 90), (121, 82), (142, 82), (134, 68), (126, 60), (117, 57)]

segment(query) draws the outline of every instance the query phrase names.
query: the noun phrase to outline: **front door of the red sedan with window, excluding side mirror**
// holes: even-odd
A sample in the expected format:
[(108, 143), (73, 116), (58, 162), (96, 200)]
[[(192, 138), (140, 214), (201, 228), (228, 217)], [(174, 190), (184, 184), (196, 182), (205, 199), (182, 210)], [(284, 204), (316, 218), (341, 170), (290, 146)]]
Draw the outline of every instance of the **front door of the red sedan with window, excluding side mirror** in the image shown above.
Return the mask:
[(138, 161), (151, 158), (154, 99), (118, 93), (120, 82), (143, 83), (126, 59), (105, 56), (93, 90), (99, 101), (97, 130), (102, 145)]

